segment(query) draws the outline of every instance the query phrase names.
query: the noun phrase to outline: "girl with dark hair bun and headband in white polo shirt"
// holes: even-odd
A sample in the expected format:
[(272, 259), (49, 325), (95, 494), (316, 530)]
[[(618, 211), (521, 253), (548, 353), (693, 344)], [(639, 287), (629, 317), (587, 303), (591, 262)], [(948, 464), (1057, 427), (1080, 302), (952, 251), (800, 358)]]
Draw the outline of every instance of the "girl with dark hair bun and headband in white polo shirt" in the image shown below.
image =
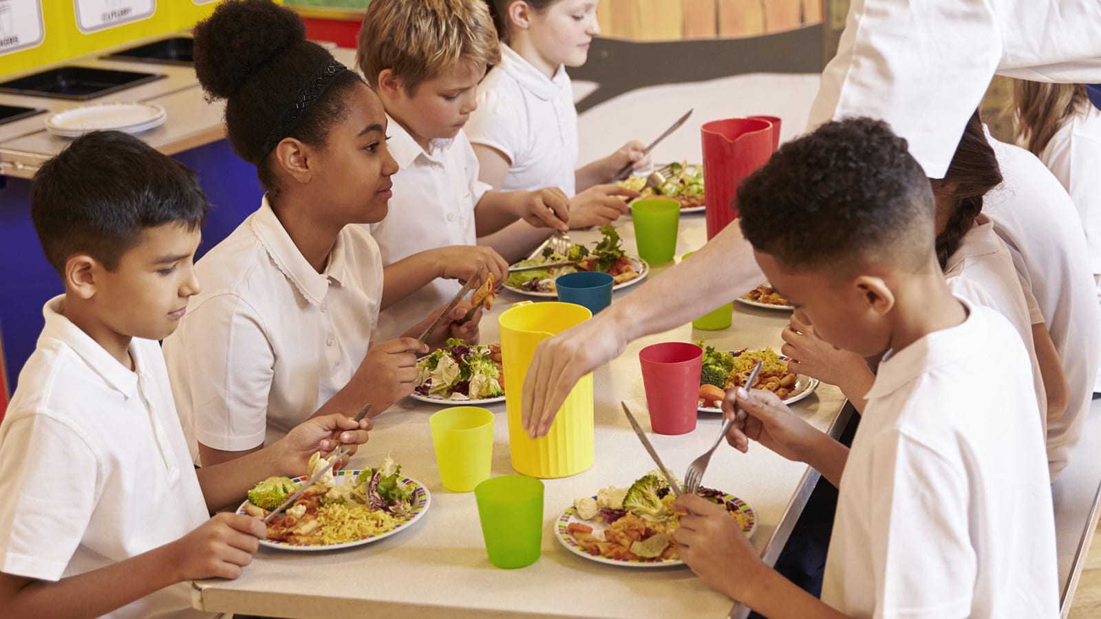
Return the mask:
[(355, 416), (368, 403), (378, 414), (412, 393), (416, 356), (448, 337), (477, 338), (480, 314), (456, 324), (470, 307), (460, 303), (426, 346), (415, 334), (436, 310), (372, 347), (380, 308), (437, 275), (472, 278), (490, 260), (445, 248), (446, 271), (413, 269), (384, 285), (363, 224), (385, 217), (397, 172), (386, 116), (362, 78), (306, 41), (291, 10), (222, 2), (195, 28), (195, 72), (211, 99), (226, 100), (229, 142), (266, 189), (260, 209), (198, 261), (203, 291), (164, 341), (193, 456), (210, 465), (310, 416)]

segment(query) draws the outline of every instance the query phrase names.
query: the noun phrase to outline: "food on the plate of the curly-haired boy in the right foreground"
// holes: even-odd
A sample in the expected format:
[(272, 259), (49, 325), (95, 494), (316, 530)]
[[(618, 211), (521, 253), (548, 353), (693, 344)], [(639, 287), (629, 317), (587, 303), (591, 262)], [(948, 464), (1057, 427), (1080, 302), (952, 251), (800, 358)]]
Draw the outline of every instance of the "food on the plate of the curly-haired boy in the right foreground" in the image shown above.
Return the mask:
[[(700, 488), (697, 493), (726, 506), (742, 530), (752, 524), (752, 517), (728, 501), (724, 493), (710, 488)], [(598, 492), (597, 499), (580, 497), (574, 501), (577, 518), (607, 523), (603, 531), (580, 522), (569, 523), (566, 531), (591, 555), (632, 561), (675, 560), (673, 532), (680, 526), (680, 517), (673, 509), (674, 498), (662, 474), (651, 471), (630, 488), (608, 487)]]

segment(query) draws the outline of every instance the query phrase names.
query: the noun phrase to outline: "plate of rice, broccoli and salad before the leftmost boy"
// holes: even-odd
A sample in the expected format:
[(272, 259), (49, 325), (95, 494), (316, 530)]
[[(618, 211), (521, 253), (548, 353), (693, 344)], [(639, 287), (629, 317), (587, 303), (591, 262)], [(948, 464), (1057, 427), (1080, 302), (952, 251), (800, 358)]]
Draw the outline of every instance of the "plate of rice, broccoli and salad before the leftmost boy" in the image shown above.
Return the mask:
[[(269, 477), (249, 490), (237, 513), (265, 517), (327, 460), (314, 454), (302, 477)], [(408, 529), (432, 502), (428, 489), (403, 477), (388, 456), (381, 467), (325, 474), (268, 523), (260, 545), (285, 551), (328, 551), (370, 544)]]

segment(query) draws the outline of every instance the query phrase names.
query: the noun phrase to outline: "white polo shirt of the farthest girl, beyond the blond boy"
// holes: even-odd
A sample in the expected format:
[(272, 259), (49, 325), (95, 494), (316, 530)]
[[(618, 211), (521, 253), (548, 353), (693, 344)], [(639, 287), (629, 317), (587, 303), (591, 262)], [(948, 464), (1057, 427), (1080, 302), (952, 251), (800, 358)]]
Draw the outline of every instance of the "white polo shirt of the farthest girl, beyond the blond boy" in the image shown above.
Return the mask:
[(512, 47), (478, 87), (478, 109), (466, 127), (473, 144), (509, 158), (501, 191), (558, 187), (576, 192), (577, 109), (566, 67), (548, 78)]

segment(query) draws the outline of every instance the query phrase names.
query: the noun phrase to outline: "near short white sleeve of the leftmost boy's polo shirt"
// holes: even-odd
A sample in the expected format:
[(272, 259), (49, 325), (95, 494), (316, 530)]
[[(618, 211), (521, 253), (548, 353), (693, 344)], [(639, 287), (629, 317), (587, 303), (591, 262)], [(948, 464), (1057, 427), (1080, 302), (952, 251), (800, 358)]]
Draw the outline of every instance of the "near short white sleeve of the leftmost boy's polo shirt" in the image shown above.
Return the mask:
[(99, 502), (99, 460), (77, 432), (46, 415), (15, 421), (3, 443), (0, 572), (57, 580)]

